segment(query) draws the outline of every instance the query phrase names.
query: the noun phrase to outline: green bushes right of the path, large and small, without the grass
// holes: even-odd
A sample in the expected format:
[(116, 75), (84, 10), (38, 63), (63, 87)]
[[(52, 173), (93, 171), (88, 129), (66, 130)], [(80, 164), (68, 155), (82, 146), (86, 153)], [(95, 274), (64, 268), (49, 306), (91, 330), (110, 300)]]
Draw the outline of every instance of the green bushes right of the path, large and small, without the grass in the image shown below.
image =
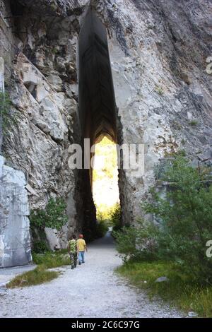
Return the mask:
[(165, 196), (152, 190), (151, 202), (143, 204), (158, 226), (143, 222), (136, 230), (124, 229), (117, 235), (119, 251), (129, 258), (174, 261), (196, 282), (212, 283), (212, 259), (206, 256), (206, 242), (212, 239), (209, 178), (205, 169), (199, 172), (182, 156), (172, 160), (163, 174), (170, 183)]

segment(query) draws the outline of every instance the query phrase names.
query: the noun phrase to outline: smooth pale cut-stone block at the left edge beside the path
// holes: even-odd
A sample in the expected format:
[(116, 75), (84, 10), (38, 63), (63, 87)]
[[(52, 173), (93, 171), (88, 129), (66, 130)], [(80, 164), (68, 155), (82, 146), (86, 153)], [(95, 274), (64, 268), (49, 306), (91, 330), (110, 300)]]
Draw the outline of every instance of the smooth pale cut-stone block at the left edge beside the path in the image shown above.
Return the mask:
[(32, 260), (25, 174), (0, 156), (0, 268)]

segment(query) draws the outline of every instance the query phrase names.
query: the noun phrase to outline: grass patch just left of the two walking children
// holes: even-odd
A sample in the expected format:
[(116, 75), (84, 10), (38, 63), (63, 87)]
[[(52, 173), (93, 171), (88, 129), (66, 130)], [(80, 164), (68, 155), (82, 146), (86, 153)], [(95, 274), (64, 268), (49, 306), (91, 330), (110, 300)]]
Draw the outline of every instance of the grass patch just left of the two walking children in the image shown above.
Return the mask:
[(59, 252), (46, 252), (45, 254), (33, 253), (35, 264), (43, 264), (47, 268), (58, 268), (59, 266), (70, 265), (70, 258), (67, 250)]

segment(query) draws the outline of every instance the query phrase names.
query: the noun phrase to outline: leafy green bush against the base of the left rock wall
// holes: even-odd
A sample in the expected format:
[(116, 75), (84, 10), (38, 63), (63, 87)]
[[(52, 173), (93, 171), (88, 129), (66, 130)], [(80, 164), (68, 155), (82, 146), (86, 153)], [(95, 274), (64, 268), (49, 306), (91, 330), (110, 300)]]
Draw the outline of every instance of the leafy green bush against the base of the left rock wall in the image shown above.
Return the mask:
[(44, 229), (45, 227), (60, 230), (67, 223), (66, 203), (62, 198), (50, 198), (45, 209), (32, 211), (30, 214), (31, 227)]

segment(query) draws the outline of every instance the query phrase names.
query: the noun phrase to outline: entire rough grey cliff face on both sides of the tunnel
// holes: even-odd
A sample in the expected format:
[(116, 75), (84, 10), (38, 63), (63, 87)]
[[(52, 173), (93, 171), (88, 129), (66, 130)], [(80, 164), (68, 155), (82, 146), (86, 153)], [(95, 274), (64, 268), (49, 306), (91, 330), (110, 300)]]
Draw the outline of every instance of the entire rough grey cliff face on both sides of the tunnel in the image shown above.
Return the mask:
[[(68, 199), (66, 237), (83, 218), (81, 180), (67, 167), (67, 149), (81, 136), (78, 32), (90, 1), (15, 2), (13, 14), (22, 16), (10, 23), (16, 33), (8, 34), (22, 54), (12, 65), (9, 85), (18, 126), (4, 148), (27, 174), (32, 208), (45, 206), (49, 196)], [(211, 76), (206, 73), (211, 1), (93, 0), (91, 5), (107, 27), (119, 143), (145, 144), (144, 175), (119, 172), (123, 221), (133, 223), (160, 158), (180, 149), (194, 160), (211, 158)]]

